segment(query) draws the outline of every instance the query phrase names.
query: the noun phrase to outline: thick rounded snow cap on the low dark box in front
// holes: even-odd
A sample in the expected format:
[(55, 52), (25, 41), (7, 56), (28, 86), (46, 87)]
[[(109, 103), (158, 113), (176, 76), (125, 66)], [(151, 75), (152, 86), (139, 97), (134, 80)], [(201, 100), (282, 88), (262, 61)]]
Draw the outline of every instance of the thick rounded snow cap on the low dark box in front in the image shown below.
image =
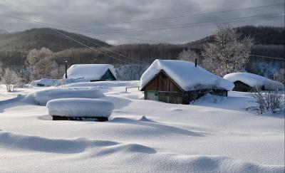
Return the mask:
[(46, 104), (49, 115), (65, 117), (110, 117), (113, 103), (90, 98), (61, 98)]

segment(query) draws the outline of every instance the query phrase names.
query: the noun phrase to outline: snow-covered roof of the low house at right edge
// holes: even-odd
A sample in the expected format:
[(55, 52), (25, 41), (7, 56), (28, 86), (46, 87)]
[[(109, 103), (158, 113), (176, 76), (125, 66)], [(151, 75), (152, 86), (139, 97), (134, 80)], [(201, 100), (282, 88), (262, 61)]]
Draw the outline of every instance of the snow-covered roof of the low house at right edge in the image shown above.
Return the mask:
[(284, 85), (282, 83), (252, 73), (229, 73), (224, 75), (224, 79), (227, 79), (232, 83), (241, 81), (252, 88), (264, 87), (265, 90), (284, 90)]

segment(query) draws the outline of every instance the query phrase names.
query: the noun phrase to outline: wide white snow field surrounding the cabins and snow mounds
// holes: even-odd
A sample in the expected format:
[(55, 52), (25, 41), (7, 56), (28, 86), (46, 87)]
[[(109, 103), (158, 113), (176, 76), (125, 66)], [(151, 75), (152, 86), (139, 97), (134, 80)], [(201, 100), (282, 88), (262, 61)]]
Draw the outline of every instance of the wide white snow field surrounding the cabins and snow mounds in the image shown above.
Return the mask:
[(245, 111), (254, 104), (247, 93), (191, 105), (125, 93), (136, 85), (65, 85), (101, 90), (115, 105), (108, 122), (52, 121), (25, 96), (46, 88), (6, 93), (0, 85), (0, 172), (284, 172), (284, 112)]

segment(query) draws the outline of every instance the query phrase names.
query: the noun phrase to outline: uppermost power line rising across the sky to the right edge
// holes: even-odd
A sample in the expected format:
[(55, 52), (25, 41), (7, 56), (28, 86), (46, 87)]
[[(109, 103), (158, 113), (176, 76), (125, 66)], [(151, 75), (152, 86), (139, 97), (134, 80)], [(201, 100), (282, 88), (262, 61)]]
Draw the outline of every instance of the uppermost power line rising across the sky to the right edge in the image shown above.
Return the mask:
[(226, 12), (232, 12), (232, 11), (241, 11), (241, 10), (248, 10), (248, 9), (261, 9), (269, 6), (279, 6), (284, 5), (284, 3), (278, 3), (278, 4), (269, 4), (266, 6), (252, 6), (247, 8), (240, 8), (240, 9), (232, 9), (232, 10), (225, 10), (225, 11), (214, 11), (214, 12), (208, 12), (208, 13), (202, 13), (202, 14), (187, 14), (182, 16), (172, 16), (172, 17), (165, 17), (165, 18), (156, 18), (156, 19), (143, 19), (143, 20), (137, 20), (137, 21), (120, 21), (115, 23), (98, 23), (93, 25), (77, 25), (77, 26), (70, 26), (70, 27), (81, 27), (81, 26), (105, 26), (105, 25), (115, 25), (115, 24), (122, 24), (122, 23), (138, 23), (138, 22), (145, 22), (145, 21), (162, 21), (162, 20), (168, 20), (168, 19), (179, 19), (179, 18), (185, 18), (185, 17), (192, 17), (192, 16), (204, 16), (209, 14), (221, 14)]

